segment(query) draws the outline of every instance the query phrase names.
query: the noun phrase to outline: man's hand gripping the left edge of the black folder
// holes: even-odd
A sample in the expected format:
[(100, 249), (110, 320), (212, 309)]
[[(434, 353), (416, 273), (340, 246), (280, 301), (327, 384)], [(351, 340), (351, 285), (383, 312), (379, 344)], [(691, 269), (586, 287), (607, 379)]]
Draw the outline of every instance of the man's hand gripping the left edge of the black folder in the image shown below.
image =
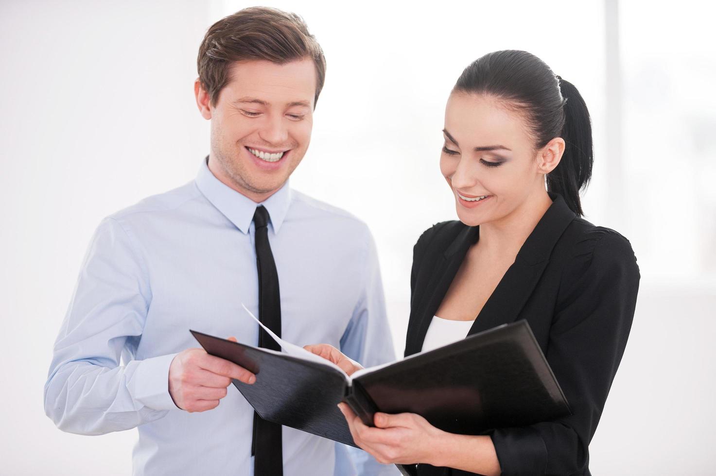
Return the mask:
[[(236, 339), (229, 338), (231, 341)], [(169, 394), (174, 404), (187, 412), (205, 412), (218, 407), (226, 397), (231, 379), (245, 384), (256, 376), (241, 366), (206, 353), (204, 349), (186, 349), (169, 366)]]

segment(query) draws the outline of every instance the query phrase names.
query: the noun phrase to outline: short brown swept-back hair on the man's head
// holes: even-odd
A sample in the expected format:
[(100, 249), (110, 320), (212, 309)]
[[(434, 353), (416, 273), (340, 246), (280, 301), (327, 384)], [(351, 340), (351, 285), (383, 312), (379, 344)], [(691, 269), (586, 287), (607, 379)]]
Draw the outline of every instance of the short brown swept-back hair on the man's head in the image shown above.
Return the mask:
[(326, 59), (316, 38), (300, 16), (266, 6), (252, 6), (211, 26), (199, 47), (199, 81), (216, 105), (221, 89), (231, 80), (233, 62), (267, 59), (284, 64), (303, 58), (316, 64), (316, 97), (326, 79)]

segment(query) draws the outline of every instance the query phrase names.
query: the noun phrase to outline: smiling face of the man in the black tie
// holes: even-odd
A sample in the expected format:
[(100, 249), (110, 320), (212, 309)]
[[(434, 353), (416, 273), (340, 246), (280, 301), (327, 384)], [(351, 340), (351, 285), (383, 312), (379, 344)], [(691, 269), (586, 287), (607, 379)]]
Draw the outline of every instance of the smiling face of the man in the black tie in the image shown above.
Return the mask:
[(286, 64), (252, 60), (236, 62), (230, 74), (212, 107), (200, 85), (195, 87), (202, 115), (211, 119), (209, 168), (261, 202), (286, 183), (309, 147), (316, 67), (309, 58)]

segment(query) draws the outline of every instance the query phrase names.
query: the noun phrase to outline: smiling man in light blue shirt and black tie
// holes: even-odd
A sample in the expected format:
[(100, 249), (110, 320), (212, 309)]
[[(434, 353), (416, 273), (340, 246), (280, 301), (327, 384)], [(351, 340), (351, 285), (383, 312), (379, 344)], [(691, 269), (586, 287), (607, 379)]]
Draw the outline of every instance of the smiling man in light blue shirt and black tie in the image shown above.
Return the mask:
[(304, 22), (238, 11), (208, 30), (198, 72), (210, 153), (195, 180), (100, 223), (54, 346), (45, 412), (78, 434), (136, 427), (135, 475), (395, 474), (258, 417), (229, 386), (261, 375), (189, 334), (275, 348), (246, 303), (296, 344), (334, 344), (366, 366), (394, 359), (366, 225), (289, 188), (325, 77)]

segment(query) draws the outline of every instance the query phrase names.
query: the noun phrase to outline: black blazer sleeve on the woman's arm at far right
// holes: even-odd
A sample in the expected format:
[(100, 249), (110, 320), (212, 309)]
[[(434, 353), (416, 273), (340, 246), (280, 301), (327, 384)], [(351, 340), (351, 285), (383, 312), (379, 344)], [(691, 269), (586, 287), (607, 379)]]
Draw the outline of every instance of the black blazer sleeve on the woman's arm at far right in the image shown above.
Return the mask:
[(546, 358), (572, 414), (491, 433), (502, 474), (582, 475), (589, 442), (624, 354), (639, 288), (627, 238), (596, 228), (563, 271)]

